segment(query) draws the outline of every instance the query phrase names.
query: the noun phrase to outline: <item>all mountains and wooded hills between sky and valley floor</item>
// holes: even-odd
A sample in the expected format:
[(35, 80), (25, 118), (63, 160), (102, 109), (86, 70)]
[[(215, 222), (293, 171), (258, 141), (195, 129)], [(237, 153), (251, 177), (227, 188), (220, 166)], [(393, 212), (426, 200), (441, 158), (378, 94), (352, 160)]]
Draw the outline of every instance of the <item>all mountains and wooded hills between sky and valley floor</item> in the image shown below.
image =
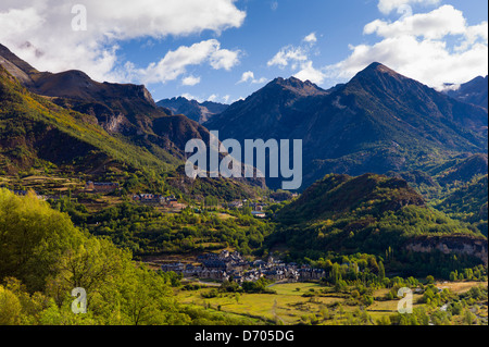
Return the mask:
[[(264, 196), (264, 182), (187, 177), (189, 139), (209, 141), (210, 131), (241, 142), (302, 139), (302, 194), (275, 214), (269, 249), (285, 244), (306, 257), (394, 249), (399, 263), (415, 269), (423, 261), (409, 258), (412, 249), (448, 245), (487, 260), (480, 191), (487, 191), (488, 111), (480, 99), (468, 100), (476, 87), (460, 90), (439, 92), (373, 63), (328, 90), (290, 77), (230, 106), (156, 103), (145, 86), (99, 83), (80, 71), (39, 72), (0, 45), (0, 172), (61, 168), (60, 175), (92, 179), (118, 173), (128, 193), (143, 187), (233, 201)], [(451, 218), (413, 188), (423, 185), (450, 193), (436, 207)]]

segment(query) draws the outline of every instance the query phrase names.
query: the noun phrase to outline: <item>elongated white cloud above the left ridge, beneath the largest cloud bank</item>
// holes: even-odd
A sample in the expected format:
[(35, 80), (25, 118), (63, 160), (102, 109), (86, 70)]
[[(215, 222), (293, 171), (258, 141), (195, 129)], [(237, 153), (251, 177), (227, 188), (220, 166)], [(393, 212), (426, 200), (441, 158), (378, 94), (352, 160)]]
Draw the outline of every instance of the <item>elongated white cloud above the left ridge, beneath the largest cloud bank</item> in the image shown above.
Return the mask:
[[(210, 39), (193, 44), (190, 47), (181, 46), (174, 51), (168, 51), (160, 62), (151, 63), (146, 69), (129, 72), (128, 76), (140, 76), (146, 84), (166, 83), (186, 74), (187, 67), (191, 65), (209, 63), (215, 70), (229, 70), (239, 62), (238, 55), (239, 51), (221, 49), (220, 41)], [(185, 79), (191, 83), (196, 82), (196, 78), (187, 77)]]

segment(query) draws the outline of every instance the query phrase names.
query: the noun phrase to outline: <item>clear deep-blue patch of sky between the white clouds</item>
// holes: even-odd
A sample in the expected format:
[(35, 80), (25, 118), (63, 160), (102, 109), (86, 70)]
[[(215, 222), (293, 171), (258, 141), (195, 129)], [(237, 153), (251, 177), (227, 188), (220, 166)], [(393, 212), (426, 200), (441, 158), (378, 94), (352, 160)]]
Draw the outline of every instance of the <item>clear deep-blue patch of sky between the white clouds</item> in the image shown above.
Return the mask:
[[(311, 49), (312, 59), (318, 65), (336, 63), (349, 54), (349, 42), (361, 42), (365, 23), (375, 18), (378, 10), (375, 2), (360, 1), (362, 11), (352, 11), (347, 1), (324, 0), (249, 0), (239, 1), (237, 7), (246, 10), (247, 18), (240, 28), (228, 29), (217, 39), (223, 47), (242, 51), (240, 63), (231, 72), (215, 71), (209, 66), (195, 66), (189, 73), (202, 76), (199, 85), (189, 87), (174, 82), (165, 85), (150, 85), (156, 98), (190, 94), (201, 99), (211, 95), (223, 98), (230, 95), (231, 99), (247, 97), (263, 86), (258, 83), (262, 78), (267, 82), (275, 77), (289, 77), (294, 71), (267, 66), (267, 62), (284, 47), (299, 46), (304, 37), (315, 33), (317, 42)], [(273, 3), (278, 3), (274, 8)], [(176, 49), (180, 45), (191, 45), (192, 41), (216, 38), (214, 33), (203, 33), (184, 39), (170, 39), (161, 42), (167, 49)], [(130, 59), (138, 59), (140, 41), (128, 45)], [(160, 47), (147, 50), (148, 55), (158, 54)], [(151, 58), (147, 57), (151, 60)], [(256, 83), (238, 83), (242, 74), (253, 72)], [(325, 80), (327, 87), (336, 80)], [(220, 101), (222, 99), (220, 98)]]

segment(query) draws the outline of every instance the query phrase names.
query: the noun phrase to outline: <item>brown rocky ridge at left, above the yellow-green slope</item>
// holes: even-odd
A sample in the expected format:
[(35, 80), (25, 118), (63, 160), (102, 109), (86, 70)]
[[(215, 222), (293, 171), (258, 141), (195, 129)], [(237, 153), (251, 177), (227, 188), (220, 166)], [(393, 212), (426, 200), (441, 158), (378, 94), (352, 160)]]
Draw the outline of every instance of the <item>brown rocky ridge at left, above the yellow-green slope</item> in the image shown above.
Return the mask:
[[(209, 138), (209, 132), (197, 122), (166, 114), (145, 86), (100, 83), (82, 71), (39, 72), (1, 45), (0, 65), (33, 94), (66, 110), (90, 115), (109, 134), (122, 135), (164, 161), (185, 159), (184, 136), (186, 140)], [(177, 125), (173, 128), (185, 128), (186, 134), (159, 126), (166, 122)]]

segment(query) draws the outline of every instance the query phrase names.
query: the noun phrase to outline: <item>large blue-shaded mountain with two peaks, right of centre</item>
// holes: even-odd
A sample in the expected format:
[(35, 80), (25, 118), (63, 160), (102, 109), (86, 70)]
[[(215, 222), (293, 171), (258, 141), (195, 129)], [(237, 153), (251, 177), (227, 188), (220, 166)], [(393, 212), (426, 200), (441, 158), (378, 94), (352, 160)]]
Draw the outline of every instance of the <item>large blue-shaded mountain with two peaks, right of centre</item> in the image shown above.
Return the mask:
[(277, 78), (204, 125), (222, 139), (302, 139), (305, 188), (328, 173), (418, 170), (486, 152), (488, 113), (373, 63), (330, 90)]

